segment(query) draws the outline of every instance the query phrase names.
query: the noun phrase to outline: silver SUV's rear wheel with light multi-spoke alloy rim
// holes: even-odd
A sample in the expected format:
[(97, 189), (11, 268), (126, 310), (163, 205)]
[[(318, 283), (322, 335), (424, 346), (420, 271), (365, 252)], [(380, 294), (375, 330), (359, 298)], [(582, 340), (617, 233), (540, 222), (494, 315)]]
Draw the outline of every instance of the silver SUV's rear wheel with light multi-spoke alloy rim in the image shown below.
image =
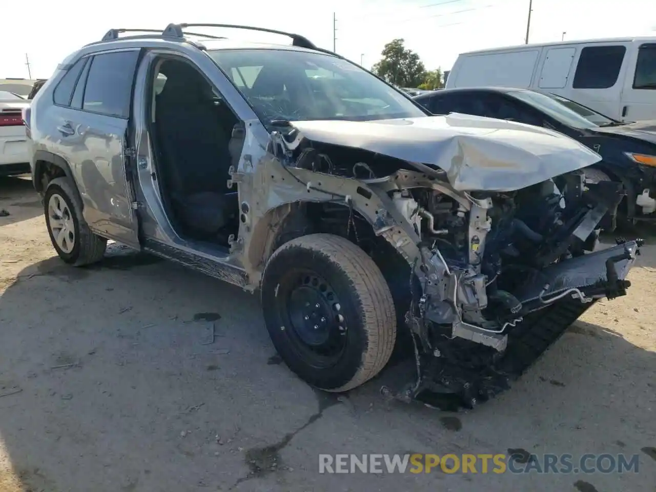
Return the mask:
[(52, 246), (62, 260), (82, 266), (102, 258), (107, 239), (96, 236), (87, 226), (82, 216), (82, 204), (68, 178), (56, 178), (48, 184), (43, 207)]

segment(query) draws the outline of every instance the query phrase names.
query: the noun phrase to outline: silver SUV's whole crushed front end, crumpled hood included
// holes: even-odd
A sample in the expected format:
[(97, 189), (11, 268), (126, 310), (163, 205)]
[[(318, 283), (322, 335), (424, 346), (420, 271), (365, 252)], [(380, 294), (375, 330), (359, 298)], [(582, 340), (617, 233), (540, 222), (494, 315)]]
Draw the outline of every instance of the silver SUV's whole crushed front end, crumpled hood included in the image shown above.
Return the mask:
[(396, 282), (410, 295), (396, 308), (417, 375), (383, 388), (390, 396), (430, 403), (452, 394), (472, 407), (596, 300), (626, 295), (641, 241), (599, 241), (625, 190), (586, 182), (600, 156), (575, 140), (470, 115), (288, 128), (273, 134), (272, 154), (306, 199), (345, 204), (343, 234), (357, 212), (409, 264), (409, 278)]

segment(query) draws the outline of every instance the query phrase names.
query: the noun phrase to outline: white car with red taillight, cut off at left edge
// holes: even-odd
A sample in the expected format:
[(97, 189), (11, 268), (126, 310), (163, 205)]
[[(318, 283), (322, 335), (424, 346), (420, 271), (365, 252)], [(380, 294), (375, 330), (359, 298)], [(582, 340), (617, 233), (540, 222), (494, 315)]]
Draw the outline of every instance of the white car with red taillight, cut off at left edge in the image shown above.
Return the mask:
[(22, 110), (30, 101), (0, 91), (0, 176), (30, 172), (30, 156)]

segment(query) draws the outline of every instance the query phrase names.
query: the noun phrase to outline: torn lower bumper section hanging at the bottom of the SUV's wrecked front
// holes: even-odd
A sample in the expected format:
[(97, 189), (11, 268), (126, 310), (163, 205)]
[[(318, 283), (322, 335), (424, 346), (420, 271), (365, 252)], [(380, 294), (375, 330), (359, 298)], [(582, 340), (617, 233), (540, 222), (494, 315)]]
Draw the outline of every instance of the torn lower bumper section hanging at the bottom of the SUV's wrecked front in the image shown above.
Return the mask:
[[(489, 363), (454, 364), (439, 350), (418, 359), (417, 382), (394, 394), (401, 401), (419, 400), (428, 405), (472, 408), (506, 390), (596, 300), (626, 295), (626, 276), (640, 254), (642, 240), (618, 241), (602, 251), (577, 256), (544, 268), (539, 279), (522, 289), (522, 321), (493, 333), (468, 323), (453, 323), (453, 337), (494, 349)], [(545, 288), (545, 285), (548, 287)], [(489, 352), (488, 352), (489, 354)], [(446, 402), (446, 403), (445, 403)]]

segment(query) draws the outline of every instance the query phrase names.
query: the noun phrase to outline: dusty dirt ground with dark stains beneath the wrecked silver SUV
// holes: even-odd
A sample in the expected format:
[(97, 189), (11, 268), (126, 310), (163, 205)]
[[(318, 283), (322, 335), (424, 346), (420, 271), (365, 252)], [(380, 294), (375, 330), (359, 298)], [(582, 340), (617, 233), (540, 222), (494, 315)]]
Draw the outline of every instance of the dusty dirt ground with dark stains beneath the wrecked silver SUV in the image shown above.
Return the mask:
[[(314, 392), (236, 287), (118, 247), (64, 265), (29, 180), (0, 178), (0, 209), (0, 492), (656, 491), (649, 241), (628, 297), (592, 308), (499, 398), (447, 413), (386, 401), (380, 380)], [(510, 450), (625, 453), (640, 468), (318, 472), (319, 453)]]

